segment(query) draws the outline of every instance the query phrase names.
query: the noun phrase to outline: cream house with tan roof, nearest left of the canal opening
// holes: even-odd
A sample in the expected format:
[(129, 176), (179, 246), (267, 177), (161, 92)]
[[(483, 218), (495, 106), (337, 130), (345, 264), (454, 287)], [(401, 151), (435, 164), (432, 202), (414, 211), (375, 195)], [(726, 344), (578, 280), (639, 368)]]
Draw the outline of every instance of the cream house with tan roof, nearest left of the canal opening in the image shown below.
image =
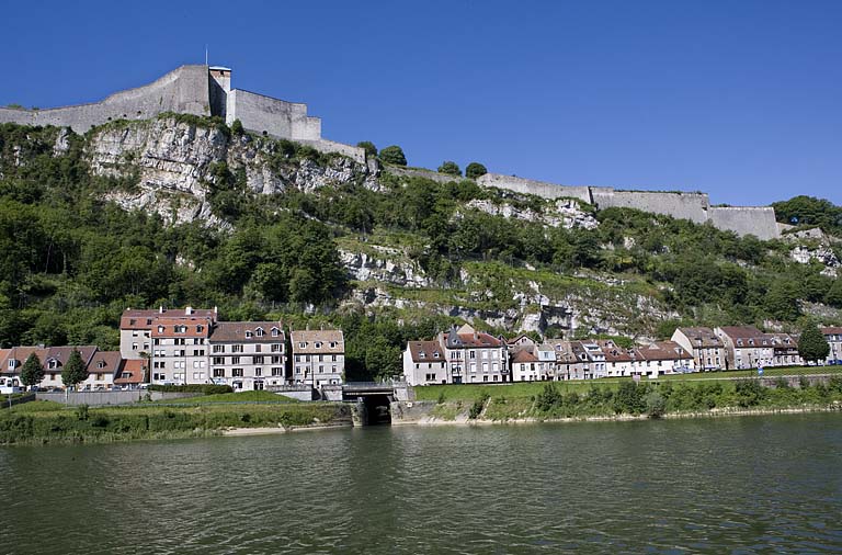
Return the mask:
[(344, 382), (345, 340), (342, 330), (317, 329), (289, 332), (293, 346), (293, 384), (337, 385)]

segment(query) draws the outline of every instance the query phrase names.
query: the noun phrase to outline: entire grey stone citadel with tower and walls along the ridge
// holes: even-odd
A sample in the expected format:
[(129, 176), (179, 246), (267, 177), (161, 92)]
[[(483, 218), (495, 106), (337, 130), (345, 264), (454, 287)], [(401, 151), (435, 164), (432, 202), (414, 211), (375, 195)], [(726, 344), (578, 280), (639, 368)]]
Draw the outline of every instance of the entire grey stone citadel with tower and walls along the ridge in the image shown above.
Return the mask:
[[(231, 69), (220, 66), (181, 66), (149, 84), (120, 91), (90, 104), (46, 110), (0, 107), (0, 123), (70, 127), (82, 134), (111, 121), (149, 120), (166, 112), (218, 116), (228, 125), (239, 120), (249, 132), (295, 140), (323, 152), (339, 152), (356, 162), (366, 162), (362, 148), (322, 138), (321, 120), (307, 115), (306, 104), (231, 89)], [(434, 172), (424, 172), (424, 177), (453, 179)], [(637, 208), (697, 224), (709, 223), (722, 230), (760, 239), (778, 238), (785, 227), (776, 222), (771, 206), (715, 206), (707, 193), (569, 186), (496, 173), (487, 173), (477, 182), (545, 199), (572, 197), (596, 208)]]

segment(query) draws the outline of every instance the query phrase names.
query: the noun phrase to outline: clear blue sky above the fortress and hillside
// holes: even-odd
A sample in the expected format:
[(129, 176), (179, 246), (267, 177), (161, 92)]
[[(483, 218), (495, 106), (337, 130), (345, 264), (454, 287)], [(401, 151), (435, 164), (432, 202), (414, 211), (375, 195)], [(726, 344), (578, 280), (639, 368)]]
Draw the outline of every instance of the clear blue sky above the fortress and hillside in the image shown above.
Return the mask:
[(182, 64), (322, 135), (562, 184), (842, 204), (842, 1), (8, 2), (0, 105)]

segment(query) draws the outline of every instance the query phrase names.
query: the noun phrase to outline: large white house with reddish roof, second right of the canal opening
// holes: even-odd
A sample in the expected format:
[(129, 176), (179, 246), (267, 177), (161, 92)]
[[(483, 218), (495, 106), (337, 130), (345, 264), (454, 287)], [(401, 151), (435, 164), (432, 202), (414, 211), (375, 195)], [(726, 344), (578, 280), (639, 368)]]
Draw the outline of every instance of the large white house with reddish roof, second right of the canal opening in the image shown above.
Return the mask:
[(451, 371), (448, 383), (511, 382), (505, 341), (468, 324), (439, 333)]

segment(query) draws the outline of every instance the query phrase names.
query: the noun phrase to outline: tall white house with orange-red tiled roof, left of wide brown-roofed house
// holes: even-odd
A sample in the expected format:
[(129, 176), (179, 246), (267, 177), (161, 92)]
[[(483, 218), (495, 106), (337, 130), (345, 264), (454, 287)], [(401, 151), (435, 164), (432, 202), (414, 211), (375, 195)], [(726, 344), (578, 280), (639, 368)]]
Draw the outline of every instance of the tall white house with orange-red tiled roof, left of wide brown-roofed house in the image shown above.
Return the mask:
[(151, 381), (153, 384), (207, 384), (210, 316), (152, 318)]

